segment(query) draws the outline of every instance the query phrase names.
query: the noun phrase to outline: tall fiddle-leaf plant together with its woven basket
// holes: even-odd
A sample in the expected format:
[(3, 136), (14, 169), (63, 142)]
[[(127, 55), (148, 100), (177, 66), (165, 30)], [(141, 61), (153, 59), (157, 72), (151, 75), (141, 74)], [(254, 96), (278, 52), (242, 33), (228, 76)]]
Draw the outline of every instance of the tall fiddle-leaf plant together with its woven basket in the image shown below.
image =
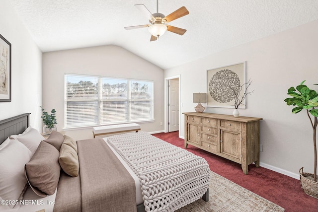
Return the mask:
[[(302, 81), (300, 85), (291, 87), (288, 89), (288, 95), (292, 98), (286, 98), (284, 101), (287, 105), (296, 106), (292, 109), (292, 113), (299, 113), (302, 110), (306, 110), (307, 116), (311, 122), (313, 128), (313, 141), (314, 141), (314, 174), (303, 172), (302, 167), (299, 170), (301, 186), (304, 192), (312, 197), (318, 199), (318, 183), (317, 183), (317, 145), (316, 145), (316, 132), (318, 125), (318, 93), (315, 90), (311, 90), (304, 85)], [(318, 85), (318, 84), (315, 84)]]

